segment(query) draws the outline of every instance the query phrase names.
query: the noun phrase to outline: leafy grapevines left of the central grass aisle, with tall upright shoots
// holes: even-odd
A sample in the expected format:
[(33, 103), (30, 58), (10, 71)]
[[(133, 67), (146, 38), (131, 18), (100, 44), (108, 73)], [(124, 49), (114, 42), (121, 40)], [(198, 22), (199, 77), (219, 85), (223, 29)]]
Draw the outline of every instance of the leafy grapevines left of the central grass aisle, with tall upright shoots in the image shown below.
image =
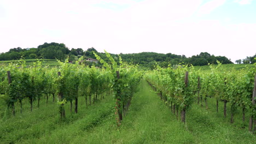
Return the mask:
[[(22, 103), (28, 99), (32, 111), (35, 100), (39, 107), (43, 95), (46, 96), (46, 103), (49, 96), (53, 95), (53, 101), (58, 98), (61, 118), (65, 118), (66, 103), (70, 103), (72, 111), (74, 101), (74, 112), (77, 113), (78, 97), (84, 97), (88, 107), (97, 99), (104, 98), (104, 94), (110, 95), (113, 92), (119, 116), (125, 115), (141, 75), (136, 67), (121, 62), (121, 58), (121, 65), (117, 65), (108, 53), (107, 56), (111, 63), (101, 61), (104, 64), (102, 69), (94, 66), (89, 68), (78, 62), (69, 64), (68, 61), (59, 62), (59, 67), (55, 68), (42, 67), (41, 62), (35, 62), (32, 67), (27, 67), (25, 61), (11, 63), (8, 67), (0, 68), (1, 98), (15, 116), (15, 103), (20, 103), (22, 113)], [(119, 117), (119, 125), (121, 120)]]

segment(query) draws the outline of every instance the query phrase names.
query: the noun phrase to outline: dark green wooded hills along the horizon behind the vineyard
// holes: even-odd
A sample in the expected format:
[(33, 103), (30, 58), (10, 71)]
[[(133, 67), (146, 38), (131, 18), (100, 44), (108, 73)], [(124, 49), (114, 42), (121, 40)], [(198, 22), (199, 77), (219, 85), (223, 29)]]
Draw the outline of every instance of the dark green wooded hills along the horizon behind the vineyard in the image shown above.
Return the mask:
[[(69, 57), (70, 61), (74, 61), (80, 56), (85, 58), (95, 58), (94, 53), (101, 56), (107, 61), (107, 57), (103, 53), (98, 52), (94, 47), (91, 47), (84, 51), (82, 48), (71, 50), (65, 44), (59, 43), (44, 43), (39, 45), (37, 48), (27, 48), (22, 49), (17, 47), (10, 49), (8, 52), (0, 53), (0, 61), (8, 61), (15, 59), (66, 59)], [(110, 54), (114, 58), (118, 58), (116, 54)], [(217, 61), (223, 64), (232, 63), (229, 58), (225, 56), (214, 56), (207, 52), (201, 52), (199, 55), (186, 57), (185, 55), (175, 55), (173, 53), (156, 53), (156, 52), (141, 52), (141, 53), (129, 53), (123, 54), (120, 53), (120, 56), (123, 58), (123, 61), (139, 64), (141, 67), (154, 68), (154, 65), (157, 63), (160, 67), (167, 67), (169, 64), (193, 64), (193, 65), (207, 65), (208, 63), (217, 64)], [(238, 59), (236, 63), (255, 63), (256, 55), (252, 57), (247, 57), (245, 59)]]

